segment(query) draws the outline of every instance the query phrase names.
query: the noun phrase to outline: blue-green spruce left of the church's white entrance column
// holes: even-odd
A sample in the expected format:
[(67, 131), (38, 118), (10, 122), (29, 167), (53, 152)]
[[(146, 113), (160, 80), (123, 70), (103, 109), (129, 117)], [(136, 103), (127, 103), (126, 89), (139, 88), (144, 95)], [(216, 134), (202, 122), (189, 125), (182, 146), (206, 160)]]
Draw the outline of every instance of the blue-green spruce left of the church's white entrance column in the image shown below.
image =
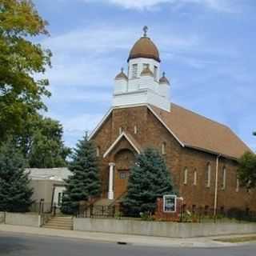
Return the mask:
[(66, 192), (62, 198), (62, 212), (66, 214), (76, 213), (79, 202), (87, 201), (100, 193), (96, 148), (87, 135), (78, 142), (74, 150), (70, 171), (72, 175), (66, 180)]

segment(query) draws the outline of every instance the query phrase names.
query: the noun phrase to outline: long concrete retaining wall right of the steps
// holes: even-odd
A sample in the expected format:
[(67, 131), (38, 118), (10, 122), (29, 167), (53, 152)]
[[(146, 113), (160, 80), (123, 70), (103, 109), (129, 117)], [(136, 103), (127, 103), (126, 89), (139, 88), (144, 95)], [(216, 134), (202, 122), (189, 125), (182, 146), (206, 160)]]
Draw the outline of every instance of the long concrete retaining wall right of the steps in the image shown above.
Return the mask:
[(193, 238), (224, 234), (255, 234), (256, 223), (177, 223), (74, 218), (74, 230), (170, 238)]

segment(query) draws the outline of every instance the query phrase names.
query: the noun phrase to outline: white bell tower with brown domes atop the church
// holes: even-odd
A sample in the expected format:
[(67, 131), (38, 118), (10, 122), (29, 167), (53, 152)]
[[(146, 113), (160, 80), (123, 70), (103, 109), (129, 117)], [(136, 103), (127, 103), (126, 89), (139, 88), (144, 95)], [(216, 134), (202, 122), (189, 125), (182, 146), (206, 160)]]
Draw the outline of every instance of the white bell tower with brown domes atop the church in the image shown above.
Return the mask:
[(160, 78), (158, 48), (144, 34), (130, 50), (128, 74), (121, 70), (114, 79), (113, 106), (151, 104), (170, 111), (170, 82), (163, 74)]

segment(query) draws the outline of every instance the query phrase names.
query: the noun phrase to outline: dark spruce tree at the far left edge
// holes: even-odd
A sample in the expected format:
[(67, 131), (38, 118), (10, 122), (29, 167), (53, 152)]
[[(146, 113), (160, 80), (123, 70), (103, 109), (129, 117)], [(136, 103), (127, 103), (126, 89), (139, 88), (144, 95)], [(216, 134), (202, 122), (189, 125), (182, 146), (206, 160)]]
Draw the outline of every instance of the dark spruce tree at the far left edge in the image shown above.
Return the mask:
[(26, 161), (12, 140), (0, 147), (0, 211), (26, 212), (33, 194)]

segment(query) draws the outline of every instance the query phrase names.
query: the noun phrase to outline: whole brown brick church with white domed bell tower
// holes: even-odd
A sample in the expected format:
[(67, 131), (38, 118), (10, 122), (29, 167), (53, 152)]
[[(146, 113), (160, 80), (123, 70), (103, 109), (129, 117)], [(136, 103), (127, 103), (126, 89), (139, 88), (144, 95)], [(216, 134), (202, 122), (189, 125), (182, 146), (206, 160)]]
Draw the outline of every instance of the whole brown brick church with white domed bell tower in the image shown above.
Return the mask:
[(229, 127), (170, 102), (157, 46), (135, 42), (128, 70), (114, 79), (113, 103), (90, 135), (97, 146), (102, 198), (126, 194), (130, 168), (146, 147), (158, 149), (186, 206), (256, 210), (256, 194), (239, 186), (238, 158), (250, 148)]

